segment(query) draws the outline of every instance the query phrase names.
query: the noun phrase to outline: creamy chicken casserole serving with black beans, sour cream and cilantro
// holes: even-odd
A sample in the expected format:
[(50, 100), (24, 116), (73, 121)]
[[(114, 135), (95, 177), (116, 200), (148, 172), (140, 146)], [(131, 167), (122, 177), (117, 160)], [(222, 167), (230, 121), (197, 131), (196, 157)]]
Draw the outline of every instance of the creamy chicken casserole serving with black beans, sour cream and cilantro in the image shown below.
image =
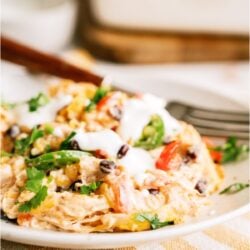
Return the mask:
[(17, 224), (71, 232), (182, 223), (222, 181), (198, 132), (164, 100), (54, 83), (1, 107), (1, 209)]

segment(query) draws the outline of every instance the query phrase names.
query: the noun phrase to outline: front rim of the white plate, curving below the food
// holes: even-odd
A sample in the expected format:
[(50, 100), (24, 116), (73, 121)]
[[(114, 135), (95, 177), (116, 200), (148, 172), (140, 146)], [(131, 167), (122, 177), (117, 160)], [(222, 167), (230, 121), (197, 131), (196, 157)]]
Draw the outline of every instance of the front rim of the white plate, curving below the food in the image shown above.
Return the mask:
[[(158, 230), (129, 232), (129, 233), (68, 233), (51, 230), (38, 230), (33, 228), (21, 227), (18, 225), (11, 225), (8, 222), (1, 220), (1, 237), (5, 240), (14, 242), (32, 244), (37, 246), (44, 246), (42, 243), (46, 242), (46, 246), (60, 247), (60, 248), (99, 248), (100, 246), (108, 247), (124, 247), (128, 245), (137, 245), (144, 242), (170, 239), (178, 235), (190, 234), (199, 230), (204, 230), (208, 227), (223, 223), (229, 219), (245, 214), (250, 211), (250, 204), (246, 204), (233, 211), (219, 215), (211, 220), (205, 219), (201, 222), (192, 224), (175, 225), (173, 228), (166, 227)], [(14, 227), (14, 228), (13, 228)], [(15, 235), (12, 236), (13, 230)], [(32, 241), (30, 241), (30, 233), (33, 233)], [(43, 235), (41, 235), (43, 234)], [(111, 236), (112, 237), (107, 237)], [(41, 240), (42, 236), (46, 239)], [(133, 237), (131, 237), (133, 236)], [(145, 240), (146, 238), (146, 240)], [(129, 242), (129, 243), (127, 243)], [(93, 246), (95, 244), (95, 246)]]

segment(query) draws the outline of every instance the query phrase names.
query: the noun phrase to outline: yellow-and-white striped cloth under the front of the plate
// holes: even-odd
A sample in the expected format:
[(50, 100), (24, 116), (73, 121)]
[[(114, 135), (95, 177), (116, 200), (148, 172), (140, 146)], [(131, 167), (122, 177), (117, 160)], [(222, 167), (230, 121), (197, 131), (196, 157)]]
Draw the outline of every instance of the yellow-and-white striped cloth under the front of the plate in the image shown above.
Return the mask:
[[(1, 241), (2, 250), (56, 250)], [(201, 232), (115, 250), (250, 250), (250, 213)]]

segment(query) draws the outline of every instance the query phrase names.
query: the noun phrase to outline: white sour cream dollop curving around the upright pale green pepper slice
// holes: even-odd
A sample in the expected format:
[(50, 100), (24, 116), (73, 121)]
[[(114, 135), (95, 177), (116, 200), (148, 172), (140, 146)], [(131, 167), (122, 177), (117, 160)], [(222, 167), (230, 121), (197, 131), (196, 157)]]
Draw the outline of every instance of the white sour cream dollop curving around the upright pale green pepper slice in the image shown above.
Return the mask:
[(123, 106), (123, 116), (118, 133), (125, 141), (140, 138), (143, 128), (149, 123), (153, 114), (158, 114), (165, 126), (165, 135), (174, 135), (181, 129), (180, 124), (165, 109), (165, 101), (151, 94), (142, 98), (132, 98)]

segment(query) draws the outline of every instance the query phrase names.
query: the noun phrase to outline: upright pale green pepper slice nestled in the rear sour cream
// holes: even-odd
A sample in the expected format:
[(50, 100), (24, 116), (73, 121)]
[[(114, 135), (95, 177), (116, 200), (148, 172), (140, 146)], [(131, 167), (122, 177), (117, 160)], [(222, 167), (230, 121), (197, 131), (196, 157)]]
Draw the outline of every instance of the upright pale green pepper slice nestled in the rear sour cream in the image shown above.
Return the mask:
[(163, 138), (164, 123), (159, 115), (153, 115), (148, 125), (144, 127), (140, 139), (135, 142), (134, 146), (151, 150), (162, 145)]

